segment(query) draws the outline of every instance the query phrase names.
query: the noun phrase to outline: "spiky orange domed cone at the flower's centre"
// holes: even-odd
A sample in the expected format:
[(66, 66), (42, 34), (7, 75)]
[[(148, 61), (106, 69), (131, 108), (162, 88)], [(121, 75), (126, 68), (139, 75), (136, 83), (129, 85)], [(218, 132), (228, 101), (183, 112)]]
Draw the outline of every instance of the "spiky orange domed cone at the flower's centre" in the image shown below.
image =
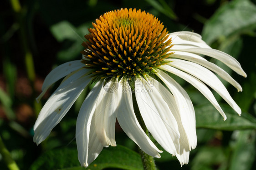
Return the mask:
[(140, 10), (107, 12), (92, 23), (82, 45), (82, 62), (96, 77), (130, 77), (151, 73), (164, 63), (171, 39), (163, 23)]

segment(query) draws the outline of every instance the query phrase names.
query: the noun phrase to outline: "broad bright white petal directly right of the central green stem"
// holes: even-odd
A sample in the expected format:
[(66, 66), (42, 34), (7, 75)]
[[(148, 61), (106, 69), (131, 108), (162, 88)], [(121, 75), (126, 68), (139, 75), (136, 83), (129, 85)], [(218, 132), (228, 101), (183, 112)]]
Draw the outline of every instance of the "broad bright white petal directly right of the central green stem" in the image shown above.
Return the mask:
[[(154, 79), (152, 79), (154, 81)], [(167, 103), (159, 92), (144, 78), (135, 80), (135, 96), (143, 121), (154, 139), (165, 151), (179, 152), (179, 129)], [(153, 82), (154, 83), (154, 82)]]

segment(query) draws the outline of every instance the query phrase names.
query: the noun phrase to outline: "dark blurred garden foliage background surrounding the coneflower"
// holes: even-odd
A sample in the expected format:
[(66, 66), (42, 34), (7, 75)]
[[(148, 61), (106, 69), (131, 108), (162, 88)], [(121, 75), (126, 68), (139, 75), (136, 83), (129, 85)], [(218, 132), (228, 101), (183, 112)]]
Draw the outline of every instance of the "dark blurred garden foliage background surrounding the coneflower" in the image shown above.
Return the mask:
[[(164, 151), (156, 159), (160, 170), (256, 169), (256, 0), (1, 0), (0, 2), (0, 136), (20, 170), (83, 170), (77, 159), (76, 118), (86, 89), (50, 136), (33, 143), (33, 124), (42, 105), (46, 75), (57, 65), (80, 59), (83, 35), (101, 14), (120, 8), (145, 10), (158, 17), (169, 32), (194, 31), (212, 48), (236, 58), (247, 73), (243, 78), (224, 68), (243, 87), (237, 92), (224, 82), (242, 109), (239, 117), (225, 102), (227, 120), (194, 87), (176, 80), (195, 106), (198, 146), (189, 164), (181, 168), (176, 157)], [(136, 145), (118, 126), (119, 146), (104, 148), (88, 169), (142, 170)], [(120, 146), (123, 145), (123, 146)], [(156, 144), (161, 148), (158, 144)], [(133, 150), (133, 151), (132, 151)], [(0, 170), (7, 170), (0, 154)]]

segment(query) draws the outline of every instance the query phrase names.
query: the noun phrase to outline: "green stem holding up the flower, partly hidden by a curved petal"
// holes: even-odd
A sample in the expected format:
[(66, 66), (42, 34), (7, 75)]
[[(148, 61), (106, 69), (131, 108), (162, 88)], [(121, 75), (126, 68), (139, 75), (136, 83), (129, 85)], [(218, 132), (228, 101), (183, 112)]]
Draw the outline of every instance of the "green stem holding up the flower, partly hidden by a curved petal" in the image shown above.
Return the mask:
[[(131, 88), (134, 91), (134, 82), (133, 82), (133, 85), (131, 86)], [(134, 109), (135, 115), (136, 115), (138, 122), (139, 122), (140, 126), (142, 127), (143, 131), (148, 135), (148, 137), (150, 137), (148, 129), (147, 129), (147, 127), (143, 121), (143, 118), (139, 112), (139, 108), (138, 108), (138, 104), (137, 104), (134, 92), (133, 92), (133, 109)], [(154, 162), (154, 157), (146, 154), (139, 147), (138, 147), (138, 150), (139, 150), (139, 154), (140, 154), (140, 157), (141, 157), (141, 160), (143, 163), (144, 170), (157, 170), (155, 162)]]

